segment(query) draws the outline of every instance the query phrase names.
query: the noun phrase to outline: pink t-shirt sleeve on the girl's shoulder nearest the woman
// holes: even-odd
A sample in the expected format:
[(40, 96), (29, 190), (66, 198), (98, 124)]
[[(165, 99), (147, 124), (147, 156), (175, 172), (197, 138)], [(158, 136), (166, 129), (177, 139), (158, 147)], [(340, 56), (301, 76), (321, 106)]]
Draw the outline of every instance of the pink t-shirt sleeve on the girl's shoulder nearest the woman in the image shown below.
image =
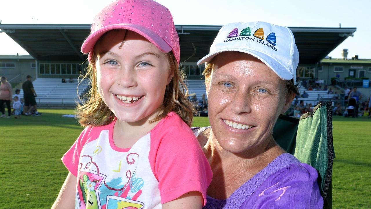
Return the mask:
[(151, 152), (162, 204), (198, 191), (206, 205), (206, 190), (213, 173), (193, 132), (178, 115), (171, 115), (151, 132)]

